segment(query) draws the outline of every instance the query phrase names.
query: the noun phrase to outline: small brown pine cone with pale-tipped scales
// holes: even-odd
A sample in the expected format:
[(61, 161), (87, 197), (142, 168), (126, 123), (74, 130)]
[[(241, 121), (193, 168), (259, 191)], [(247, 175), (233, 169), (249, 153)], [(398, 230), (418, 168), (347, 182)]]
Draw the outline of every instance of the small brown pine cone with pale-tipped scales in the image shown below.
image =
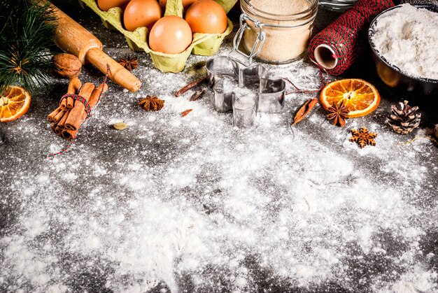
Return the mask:
[(386, 119), (397, 134), (409, 134), (420, 126), (421, 114), (417, 113), (418, 107), (411, 107), (408, 101), (400, 103), (400, 108), (391, 106), (391, 115)]

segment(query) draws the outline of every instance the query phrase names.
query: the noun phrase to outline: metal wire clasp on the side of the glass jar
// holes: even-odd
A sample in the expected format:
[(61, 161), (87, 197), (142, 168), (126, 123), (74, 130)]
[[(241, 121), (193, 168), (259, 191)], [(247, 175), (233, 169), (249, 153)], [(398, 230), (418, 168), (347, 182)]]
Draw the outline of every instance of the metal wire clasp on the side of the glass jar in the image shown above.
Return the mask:
[[(239, 45), (240, 45), (242, 38), (243, 38), (243, 33), (246, 31), (246, 29), (251, 29), (247, 23), (247, 20), (249, 20), (250, 22), (253, 22), (254, 27), (256, 29), (258, 29), (257, 38), (255, 40), (255, 43), (254, 43), (253, 48), (251, 49), (251, 52), (249, 55), (248, 55), (248, 53), (243, 52), (242, 50), (239, 49)], [(262, 22), (260, 22), (258, 20), (254, 20), (252, 17), (250, 17), (246, 13), (242, 13), (240, 15), (240, 28), (237, 31), (236, 36), (234, 36), (233, 50), (228, 53), (228, 57), (234, 51), (238, 52), (239, 54), (247, 57), (249, 59), (249, 65), (251, 65), (253, 63), (253, 58), (256, 57), (258, 55), (258, 53), (260, 53), (260, 50), (262, 50), (264, 40), (266, 39), (266, 34), (263, 31), (263, 25), (264, 24)]]

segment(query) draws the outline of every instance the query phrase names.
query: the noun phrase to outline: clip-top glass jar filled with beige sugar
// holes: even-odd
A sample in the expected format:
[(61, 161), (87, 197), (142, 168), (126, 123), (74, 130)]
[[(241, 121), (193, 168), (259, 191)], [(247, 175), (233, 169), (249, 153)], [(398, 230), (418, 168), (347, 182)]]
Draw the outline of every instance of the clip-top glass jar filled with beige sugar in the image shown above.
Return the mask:
[[(254, 0), (241, 0), (243, 47), (250, 52), (247, 55), (250, 62), (253, 57), (274, 64), (302, 59), (311, 37), (318, 0), (302, 1), (306, 4), (302, 8), (304, 10), (293, 14), (271, 13), (278, 6), (276, 0), (270, 1), (269, 13), (267, 9), (256, 8), (251, 2), (254, 3)], [(293, 5), (292, 2), (288, 3)]]

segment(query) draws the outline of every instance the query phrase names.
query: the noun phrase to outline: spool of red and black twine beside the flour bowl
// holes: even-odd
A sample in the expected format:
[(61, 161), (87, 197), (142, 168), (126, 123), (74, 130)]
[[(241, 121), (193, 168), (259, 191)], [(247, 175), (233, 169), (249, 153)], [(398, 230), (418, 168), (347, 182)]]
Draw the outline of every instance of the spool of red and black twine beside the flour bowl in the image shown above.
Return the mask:
[(394, 6), (392, 0), (359, 0), (355, 6), (337, 18), (332, 24), (314, 36), (309, 44), (309, 57), (318, 66), (315, 50), (319, 45), (327, 45), (334, 54), (337, 64), (327, 73), (339, 76), (346, 71), (365, 48), (365, 30), (369, 23), (383, 10)]

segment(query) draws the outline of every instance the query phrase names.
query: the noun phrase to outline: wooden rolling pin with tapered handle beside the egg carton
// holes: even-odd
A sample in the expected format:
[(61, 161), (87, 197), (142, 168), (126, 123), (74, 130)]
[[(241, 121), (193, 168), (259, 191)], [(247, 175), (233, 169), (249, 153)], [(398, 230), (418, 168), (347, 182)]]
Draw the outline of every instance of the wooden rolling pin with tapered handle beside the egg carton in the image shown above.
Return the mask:
[(125, 67), (102, 51), (102, 43), (83, 26), (74, 21), (56, 6), (50, 5), (57, 17), (56, 44), (64, 52), (76, 55), (80, 62), (93, 64), (101, 72), (106, 73), (106, 64), (110, 71), (108, 77), (131, 92), (141, 87), (141, 81)]

